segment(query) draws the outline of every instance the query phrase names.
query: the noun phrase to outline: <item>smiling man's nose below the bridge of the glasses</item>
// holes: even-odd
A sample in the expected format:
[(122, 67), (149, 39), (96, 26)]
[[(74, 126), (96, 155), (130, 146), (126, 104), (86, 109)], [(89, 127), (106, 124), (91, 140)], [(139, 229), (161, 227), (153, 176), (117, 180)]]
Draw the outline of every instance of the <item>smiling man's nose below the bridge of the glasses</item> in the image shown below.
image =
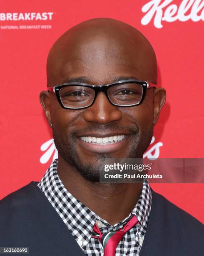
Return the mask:
[(117, 106), (112, 105), (108, 101), (104, 92), (99, 92), (94, 104), (85, 109), (83, 118), (88, 122), (106, 124), (120, 120), (122, 113)]

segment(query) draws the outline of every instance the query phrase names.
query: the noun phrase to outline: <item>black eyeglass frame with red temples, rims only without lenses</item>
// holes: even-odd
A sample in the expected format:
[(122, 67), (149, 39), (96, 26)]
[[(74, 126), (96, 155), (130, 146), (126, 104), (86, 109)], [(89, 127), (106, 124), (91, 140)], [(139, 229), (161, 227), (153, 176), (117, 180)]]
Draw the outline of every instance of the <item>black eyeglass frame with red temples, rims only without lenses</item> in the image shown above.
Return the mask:
[[(115, 84), (122, 84), (122, 83), (131, 83), (131, 82), (136, 82), (137, 84), (140, 84), (142, 85), (142, 97), (141, 97), (141, 100), (136, 103), (136, 104), (132, 104), (132, 105), (118, 105), (118, 104), (115, 104), (113, 103), (110, 99), (109, 99), (109, 96), (108, 96), (108, 93), (107, 93), (107, 90), (112, 87), (113, 85)], [(94, 91), (95, 91), (95, 95), (94, 95), (94, 99), (92, 101), (92, 103), (90, 103), (88, 106), (86, 107), (80, 107), (80, 108), (70, 108), (70, 107), (66, 107), (65, 105), (63, 105), (62, 103), (62, 100), (61, 100), (61, 97), (60, 97), (60, 89), (62, 89), (63, 87), (67, 87), (67, 86), (71, 86), (71, 85), (80, 85), (80, 86), (84, 86), (84, 87), (88, 87), (88, 88), (92, 88)], [(87, 84), (87, 83), (80, 83), (80, 82), (70, 82), (70, 83), (63, 83), (63, 84), (58, 84), (58, 85), (55, 85), (53, 87), (47, 87), (47, 91), (48, 92), (53, 92), (55, 93), (56, 97), (57, 97), (57, 100), (58, 102), (60, 103), (60, 105), (62, 106), (62, 108), (65, 108), (65, 109), (83, 109), (83, 108), (88, 108), (88, 107), (91, 107), (96, 98), (97, 98), (97, 94), (99, 92), (104, 92), (104, 94), (106, 95), (108, 101), (114, 105), (114, 106), (117, 106), (117, 107), (123, 107), (123, 108), (128, 108), (128, 107), (134, 107), (134, 106), (137, 106), (137, 105), (140, 105), (142, 103), (142, 101), (144, 100), (144, 97), (146, 95), (146, 92), (147, 92), (147, 89), (149, 88), (156, 88), (156, 84), (153, 84), (151, 82), (147, 82), (147, 81), (141, 81), (141, 80), (135, 80), (135, 79), (128, 79), (128, 80), (119, 80), (117, 82), (113, 82), (111, 84), (99, 84), (99, 85), (92, 85), (92, 84)]]

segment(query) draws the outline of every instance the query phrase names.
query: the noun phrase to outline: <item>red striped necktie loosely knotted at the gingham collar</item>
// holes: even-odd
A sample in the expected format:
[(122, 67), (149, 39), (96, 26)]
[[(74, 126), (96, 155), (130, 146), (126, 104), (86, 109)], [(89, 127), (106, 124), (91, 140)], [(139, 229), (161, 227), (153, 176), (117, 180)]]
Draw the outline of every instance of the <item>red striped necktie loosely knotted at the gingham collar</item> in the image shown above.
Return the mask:
[(124, 227), (120, 228), (114, 232), (108, 232), (102, 234), (99, 227), (95, 223), (93, 231), (97, 233), (97, 236), (92, 236), (93, 238), (99, 239), (104, 248), (104, 256), (114, 256), (117, 245), (125, 235), (127, 231), (129, 231), (134, 225), (138, 223), (137, 217), (133, 215), (129, 221), (124, 225)]

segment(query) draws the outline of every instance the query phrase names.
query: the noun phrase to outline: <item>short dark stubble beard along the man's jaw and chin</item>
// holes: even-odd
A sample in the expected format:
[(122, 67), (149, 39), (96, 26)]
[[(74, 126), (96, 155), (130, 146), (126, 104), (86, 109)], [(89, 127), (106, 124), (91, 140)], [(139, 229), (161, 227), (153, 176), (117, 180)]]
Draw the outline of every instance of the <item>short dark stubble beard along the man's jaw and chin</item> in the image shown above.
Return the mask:
[[(95, 130), (103, 130), (102, 128), (95, 128)], [(129, 129), (129, 128), (128, 128)], [(94, 129), (92, 129), (94, 130)], [(114, 131), (114, 129), (112, 129)], [(147, 150), (153, 136), (153, 125), (141, 133), (138, 126), (132, 129), (132, 140), (129, 144), (129, 152), (122, 158), (142, 158), (144, 152)], [(90, 130), (89, 130), (90, 131)], [(53, 138), (58, 153), (62, 158), (67, 161), (68, 164), (72, 165), (76, 172), (90, 181), (100, 182), (100, 166), (106, 164), (108, 158), (113, 158), (112, 154), (97, 154), (92, 163), (82, 161), (76, 150), (76, 139), (75, 132), (69, 133), (67, 136), (62, 136), (55, 128), (52, 128)], [(125, 154), (124, 154), (125, 155)]]

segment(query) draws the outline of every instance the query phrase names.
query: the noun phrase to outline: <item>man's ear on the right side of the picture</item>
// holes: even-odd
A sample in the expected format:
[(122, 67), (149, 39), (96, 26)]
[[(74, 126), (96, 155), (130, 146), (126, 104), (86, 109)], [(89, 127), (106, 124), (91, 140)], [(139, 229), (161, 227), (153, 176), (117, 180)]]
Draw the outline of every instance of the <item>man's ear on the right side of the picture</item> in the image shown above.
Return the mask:
[(154, 125), (157, 123), (159, 119), (160, 111), (165, 103), (166, 100), (166, 90), (164, 88), (156, 88), (154, 90), (154, 116), (153, 116), (153, 123)]

